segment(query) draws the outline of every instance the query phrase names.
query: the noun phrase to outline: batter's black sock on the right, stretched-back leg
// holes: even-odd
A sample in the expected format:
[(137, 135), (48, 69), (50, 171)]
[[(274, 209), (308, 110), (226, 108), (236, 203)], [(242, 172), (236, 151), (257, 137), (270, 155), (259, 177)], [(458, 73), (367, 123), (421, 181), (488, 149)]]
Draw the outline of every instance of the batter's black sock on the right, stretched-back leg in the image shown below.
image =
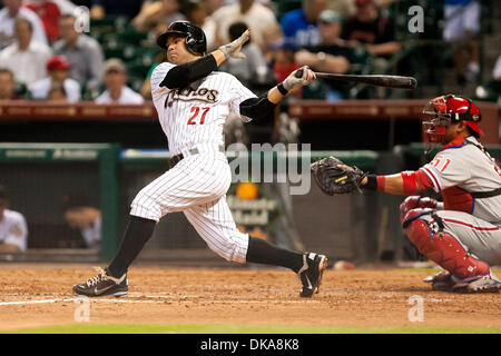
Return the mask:
[(247, 261), (287, 267), (296, 274), (303, 267), (303, 254), (277, 247), (257, 237), (249, 236)]

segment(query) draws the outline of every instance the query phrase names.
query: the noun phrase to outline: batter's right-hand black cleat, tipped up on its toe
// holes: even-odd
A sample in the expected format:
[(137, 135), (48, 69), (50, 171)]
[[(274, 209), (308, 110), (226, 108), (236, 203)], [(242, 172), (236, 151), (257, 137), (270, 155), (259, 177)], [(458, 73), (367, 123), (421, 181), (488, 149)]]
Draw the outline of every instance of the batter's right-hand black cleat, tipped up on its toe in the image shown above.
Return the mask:
[(303, 284), (303, 290), (299, 297), (311, 298), (314, 293), (318, 293), (322, 284), (322, 277), (327, 268), (327, 257), (313, 253), (303, 255), (303, 267), (301, 267), (297, 276)]

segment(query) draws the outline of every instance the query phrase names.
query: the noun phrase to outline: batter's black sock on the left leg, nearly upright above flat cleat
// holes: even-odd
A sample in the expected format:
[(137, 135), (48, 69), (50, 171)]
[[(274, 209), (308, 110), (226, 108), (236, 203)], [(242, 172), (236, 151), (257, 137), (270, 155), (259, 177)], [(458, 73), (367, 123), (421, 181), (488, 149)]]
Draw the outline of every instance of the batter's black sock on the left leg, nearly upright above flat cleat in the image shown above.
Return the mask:
[(108, 271), (112, 277), (120, 278), (127, 271), (127, 268), (151, 237), (155, 225), (155, 220), (130, 216), (118, 254), (108, 266)]

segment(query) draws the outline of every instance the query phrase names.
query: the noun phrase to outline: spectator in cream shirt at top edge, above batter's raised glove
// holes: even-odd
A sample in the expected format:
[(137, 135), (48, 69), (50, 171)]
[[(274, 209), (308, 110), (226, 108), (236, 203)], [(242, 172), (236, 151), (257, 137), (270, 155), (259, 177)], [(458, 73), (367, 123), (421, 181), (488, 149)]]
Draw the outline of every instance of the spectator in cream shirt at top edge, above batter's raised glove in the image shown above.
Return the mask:
[(238, 3), (219, 8), (212, 14), (217, 23), (217, 46), (229, 42), (228, 29), (232, 23), (244, 21), (253, 30), (250, 40), (266, 50), (265, 32), (279, 30), (273, 11), (254, 0), (239, 0)]

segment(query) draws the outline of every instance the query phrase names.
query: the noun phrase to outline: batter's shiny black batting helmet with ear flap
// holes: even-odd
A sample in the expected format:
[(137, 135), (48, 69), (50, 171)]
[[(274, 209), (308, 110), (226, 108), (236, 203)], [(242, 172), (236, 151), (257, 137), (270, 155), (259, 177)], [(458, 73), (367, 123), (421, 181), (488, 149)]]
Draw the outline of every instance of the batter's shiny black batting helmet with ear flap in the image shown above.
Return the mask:
[(173, 34), (186, 37), (186, 48), (194, 55), (204, 56), (207, 51), (207, 39), (204, 30), (189, 21), (174, 21), (167, 28), (167, 31), (158, 36), (157, 44), (167, 49), (167, 38)]

